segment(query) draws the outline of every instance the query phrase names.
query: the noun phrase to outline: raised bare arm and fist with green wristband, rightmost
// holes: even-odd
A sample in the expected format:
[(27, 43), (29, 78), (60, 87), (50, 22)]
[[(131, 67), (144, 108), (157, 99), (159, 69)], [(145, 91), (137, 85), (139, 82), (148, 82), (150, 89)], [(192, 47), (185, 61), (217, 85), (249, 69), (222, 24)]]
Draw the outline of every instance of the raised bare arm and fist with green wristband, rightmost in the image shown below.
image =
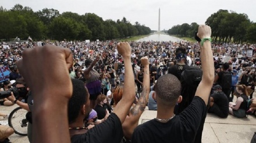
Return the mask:
[[(198, 27), (197, 36), (200, 39), (211, 37), (211, 27), (207, 25), (200, 25)], [(195, 91), (195, 96), (199, 96), (204, 100), (205, 105), (208, 103), (209, 93), (211, 92), (214, 83), (214, 58), (212, 56), (211, 42), (205, 41), (200, 46), (201, 63), (202, 63), (202, 80)]]

